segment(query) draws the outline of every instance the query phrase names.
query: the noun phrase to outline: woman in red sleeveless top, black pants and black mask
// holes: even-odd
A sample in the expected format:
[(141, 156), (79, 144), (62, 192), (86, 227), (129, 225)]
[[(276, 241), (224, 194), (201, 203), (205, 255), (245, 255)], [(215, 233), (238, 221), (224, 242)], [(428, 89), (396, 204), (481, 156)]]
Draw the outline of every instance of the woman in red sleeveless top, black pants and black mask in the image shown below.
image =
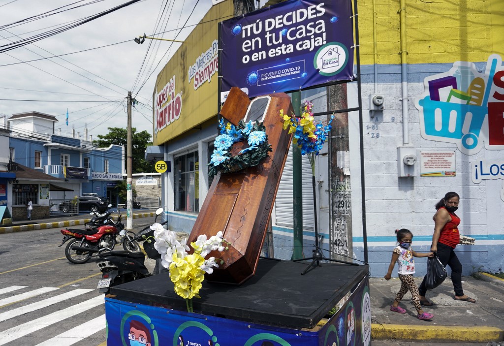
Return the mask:
[[(460, 218), (455, 214), (459, 202), (460, 196), (457, 192), (448, 192), (435, 205), (436, 213), (432, 218), (434, 220), (434, 234), (432, 235), (430, 251), (436, 252), (441, 263), (445, 267), (449, 265), (452, 269), (452, 282), (455, 291), (453, 299), (475, 303), (476, 301), (466, 296), (462, 290), (462, 264), (454, 251), (460, 242), (458, 228)], [(420, 304), (424, 306), (434, 305), (425, 298), (427, 292), (425, 278), (423, 278), (418, 291), (420, 293)]]

